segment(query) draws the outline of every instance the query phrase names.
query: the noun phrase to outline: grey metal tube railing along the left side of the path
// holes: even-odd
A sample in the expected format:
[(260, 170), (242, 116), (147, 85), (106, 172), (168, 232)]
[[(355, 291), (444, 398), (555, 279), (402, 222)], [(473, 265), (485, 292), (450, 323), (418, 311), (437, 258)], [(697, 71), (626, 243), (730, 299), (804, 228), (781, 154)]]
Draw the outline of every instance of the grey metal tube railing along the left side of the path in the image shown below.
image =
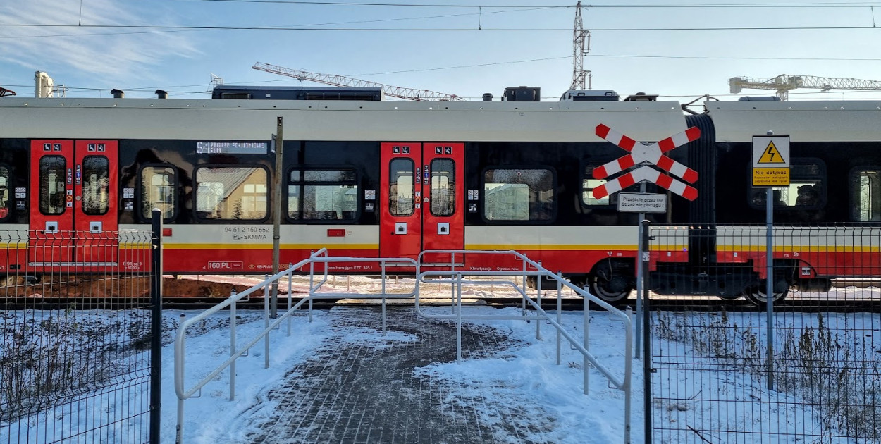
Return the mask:
[[(257, 344), (260, 339), (264, 340), (264, 367), (269, 368), (270, 366), (270, 331), (273, 329), (277, 329), (278, 326), (287, 320), (287, 336), (291, 336), (291, 317), (292, 314), (295, 314), (297, 310), (303, 306), (306, 302), (309, 303), (309, 321), (312, 321), (312, 300), (314, 299), (338, 299), (340, 297), (345, 296), (354, 296), (355, 294), (351, 293), (320, 293), (317, 292), (325, 282), (327, 282), (328, 277), (328, 264), (329, 263), (380, 263), (382, 270), (382, 292), (380, 294), (370, 294), (364, 295), (359, 294), (361, 297), (372, 297), (374, 299), (382, 300), (382, 330), (385, 332), (385, 300), (392, 298), (412, 298), (416, 294), (416, 290), (414, 288), (411, 293), (386, 293), (385, 292), (385, 272), (389, 267), (417, 267), (417, 263), (413, 259), (409, 258), (363, 258), (363, 257), (329, 257), (327, 248), (322, 248), (315, 253), (309, 255), (307, 259), (300, 261), (299, 263), (289, 264), (287, 270), (280, 271), (273, 276), (268, 276), (263, 282), (259, 284), (253, 285), (244, 292), (237, 293), (233, 290), (232, 294), (229, 298), (224, 300), (223, 302), (205, 310), (201, 314), (197, 314), (191, 319), (183, 320), (185, 317), (184, 314), (181, 314), (181, 324), (178, 326), (176, 336), (174, 337), (174, 393), (177, 396), (177, 426), (175, 429), (175, 442), (177, 444), (181, 444), (183, 442), (183, 417), (184, 417), (184, 401), (193, 397), (198, 393), (208, 382), (212, 381), (218, 374), (223, 372), (226, 368), (229, 368), (229, 399), (233, 401), (235, 399), (235, 361), (236, 359), (241, 358), (241, 356), (245, 356), (248, 350), (251, 349), (255, 344)], [(324, 264), (324, 275), (322, 279), (315, 283), (315, 263), (323, 263)], [(293, 273), (298, 272), (297, 270), (301, 270), (305, 266), (309, 266), (309, 295), (306, 298), (301, 299), (296, 304), (292, 304), (292, 279)], [(288, 278), (288, 292), (287, 292), (287, 309), (284, 313), (278, 314), (278, 317), (275, 319), (270, 319), (270, 285), (273, 282), (278, 281), (282, 277)], [(415, 286), (415, 285), (414, 285)], [(236, 303), (242, 299), (248, 298), (252, 293), (265, 289), (263, 293), (263, 331), (257, 334), (254, 338), (248, 341), (247, 344), (242, 345), (241, 348), (237, 349), (236, 347), (236, 323), (235, 323), (235, 308)], [(196, 322), (200, 322), (204, 320), (206, 317), (211, 314), (215, 314), (218, 311), (229, 307), (229, 315), (230, 315), (230, 336), (229, 336), (229, 358), (226, 359), (223, 363), (217, 366), (214, 370), (211, 371), (210, 374), (205, 376), (203, 379), (197, 381), (193, 384), (189, 389), (185, 388), (185, 358), (186, 358), (186, 333), (187, 329), (189, 329)]]

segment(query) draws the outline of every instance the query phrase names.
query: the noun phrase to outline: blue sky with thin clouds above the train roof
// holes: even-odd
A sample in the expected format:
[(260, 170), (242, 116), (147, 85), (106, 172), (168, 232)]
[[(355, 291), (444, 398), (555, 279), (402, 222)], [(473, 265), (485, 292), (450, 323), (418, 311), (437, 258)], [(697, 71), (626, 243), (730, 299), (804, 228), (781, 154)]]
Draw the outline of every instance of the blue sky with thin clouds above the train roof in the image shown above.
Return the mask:
[[(768, 7), (771, 2), (759, 0), (751, 0), (753, 7), (732, 8), (708, 7), (733, 4), (729, 0), (595, 3), (582, 10), (584, 26), (591, 30), (584, 67), (592, 71), (593, 89), (680, 101), (707, 93), (727, 99), (728, 80), (736, 76), (881, 80), (881, 29), (872, 28), (881, 25), (881, 3), (873, 8), (859, 1), (784, 1), (797, 6)], [(551, 6), (574, 6), (574, 0), (371, 2), (470, 5), (463, 7), (316, 3), (322, 2), (5, 0), (0, 2), (0, 86), (33, 97), (36, 70), (69, 87), (68, 97), (109, 97), (112, 88), (124, 90), (126, 97), (154, 97), (159, 88), (171, 98), (207, 98), (211, 74), (227, 85), (315, 85), (253, 70), (257, 62), (471, 100), (483, 93), (498, 100), (506, 86), (515, 85), (540, 86), (544, 100), (556, 100), (572, 80), (574, 8)], [(638, 7), (608, 7), (624, 4)], [(78, 24), (96, 27), (48, 26)], [(706, 27), (800, 29), (671, 30)], [(512, 31), (494, 30), (500, 28)], [(644, 30), (615, 30), (622, 28)], [(881, 91), (790, 93), (791, 100), (819, 98), (881, 100)]]

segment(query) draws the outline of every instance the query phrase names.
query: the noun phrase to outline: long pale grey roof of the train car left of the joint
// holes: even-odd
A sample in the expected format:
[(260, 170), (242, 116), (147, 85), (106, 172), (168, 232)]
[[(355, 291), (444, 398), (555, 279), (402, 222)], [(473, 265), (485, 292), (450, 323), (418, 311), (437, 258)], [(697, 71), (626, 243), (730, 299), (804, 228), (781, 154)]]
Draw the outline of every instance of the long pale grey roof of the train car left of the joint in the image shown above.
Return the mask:
[(0, 100), (0, 137), (266, 140), (600, 141), (603, 123), (640, 141), (685, 130), (675, 101)]

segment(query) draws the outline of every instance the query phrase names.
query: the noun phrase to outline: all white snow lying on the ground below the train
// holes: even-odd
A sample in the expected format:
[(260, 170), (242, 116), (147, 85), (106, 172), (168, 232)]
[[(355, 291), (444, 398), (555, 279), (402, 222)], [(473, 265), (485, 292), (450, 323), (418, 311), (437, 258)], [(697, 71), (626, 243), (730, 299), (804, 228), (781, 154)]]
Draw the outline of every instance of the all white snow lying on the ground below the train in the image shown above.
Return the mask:
[[(369, 344), (370, 347), (388, 348), (403, 347), (406, 343), (416, 341), (417, 338), (410, 333), (389, 329), (382, 333), (379, 324), (353, 325), (340, 327), (333, 319), (338, 316), (346, 316), (345, 307), (334, 307), (330, 310), (316, 310), (313, 320), (305, 312), (293, 316), (292, 335), (285, 336), (283, 325), (272, 335), (270, 367), (263, 367), (263, 341), (260, 341), (250, 351), (248, 356), (243, 356), (236, 365), (236, 396), (233, 401), (228, 400), (229, 380), (228, 371), (221, 372), (213, 381), (210, 381), (202, 391), (201, 396), (190, 398), (184, 406), (183, 438), (185, 442), (193, 444), (215, 444), (218, 442), (245, 443), (248, 442), (248, 434), (255, 433), (256, 427), (266, 418), (270, 412), (279, 407), (277, 401), (270, 400), (267, 396), (271, 389), (281, 384), (286, 372), (298, 363), (315, 355), (322, 344)], [(515, 316), (521, 314), (518, 307), (493, 308), (493, 307), (464, 307), (466, 314)], [(449, 314), (449, 307), (426, 307), (430, 314)], [(38, 312), (41, 315), (58, 315), (51, 312)], [(124, 314), (123, 312), (115, 312)], [(163, 315), (166, 322), (174, 325), (181, 314), (192, 318), (198, 311), (166, 310)], [(394, 315), (396, 312), (390, 312)], [(237, 341), (244, 344), (250, 338), (255, 337), (263, 330), (261, 312), (240, 312), (241, 319), (237, 323)], [(31, 316), (33, 313), (19, 311), (16, 316)], [(87, 316), (86, 314), (82, 314)], [(706, 325), (709, 322), (718, 322), (718, 314), (668, 314), (669, 316), (693, 316), (688, 318), (688, 325)], [(189, 331), (186, 342), (185, 358), (185, 390), (192, 388), (196, 381), (222, 363), (229, 354), (229, 314), (218, 313), (209, 317), (199, 328)], [(730, 323), (743, 328), (751, 327), (758, 332), (759, 344), (764, 341), (763, 331), (765, 314), (760, 313), (731, 313)], [(849, 322), (857, 322), (862, 319), (862, 328), (877, 329), (881, 319), (877, 315), (865, 314), (862, 317), (855, 314), (827, 314), (827, 325), (836, 325), (836, 334), (841, 335), (844, 330), (840, 325), (848, 325)], [(685, 318), (684, 318), (685, 319)], [(20, 321), (19, 321), (20, 322)], [(426, 321), (429, 322), (429, 321)], [(415, 374), (427, 377), (434, 382), (453, 382), (448, 384), (450, 392), (445, 402), (455, 403), (462, 399), (496, 399), (499, 403), (520, 403), (529, 400), (529, 404), (541, 408), (548, 414), (558, 418), (553, 426), (536, 427), (528, 436), (530, 442), (559, 442), (561, 444), (591, 444), (621, 442), (623, 438), (623, 414), (622, 394), (615, 388), (609, 387), (608, 381), (596, 372), (590, 371), (590, 392), (588, 396), (582, 394), (581, 354), (571, 347), (563, 344), (560, 366), (555, 365), (556, 341), (552, 334), (552, 327), (545, 325), (542, 329), (543, 337), (537, 339), (535, 323), (522, 321), (469, 321), (470, 323), (486, 325), (499, 329), (511, 341), (511, 346), (501, 351), (496, 356), (480, 359), (463, 359), (461, 363), (433, 363), (414, 369)], [(575, 337), (581, 337), (581, 325), (583, 325), (581, 312), (567, 311), (562, 314), (562, 324)], [(676, 322), (670, 320), (673, 324)], [(813, 316), (778, 316), (778, 328), (786, 325), (794, 328), (796, 332), (809, 327), (816, 328), (817, 319)], [(870, 322), (870, 323), (865, 323)], [(85, 325), (85, 323), (84, 323)], [(685, 325), (685, 324), (684, 324)], [(611, 373), (618, 377), (623, 375), (623, 337), (621, 335), (622, 322), (618, 318), (602, 311), (592, 311), (590, 319), (590, 351), (610, 369)], [(834, 327), (833, 327), (834, 328)], [(781, 329), (783, 331), (784, 329)], [(737, 329), (734, 330), (737, 333)], [(746, 331), (745, 329), (743, 330)], [(862, 330), (856, 330), (857, 336)], [(848, 332), (844, 332), (845, 336)], [(841, 337), (836, 337), (842, 339)], [(854, 344), (857, 359), (863, 356), (865, 349), (860, 349), (862, 341), (844, 337), (843, 344)], [(879, 339), (869, 339), (868, 342), (877, 346)], [(743, 341), (734, 341), (740, 344)], [(669, 338), (655, 339), (654, 347), (667, 351), (676, 351), (680, 359), (694, 359), (691, 364), (710, 366), (706, 361), (707, 351), (692, 351), (691, 343), (674, 343)], [(737, 346), (732, 345), (732, 346)], [(862, 345), (865, 347), (866, 345)], [(149, 351), (144, 351), (144, 353)], [(840, 351), (844, 353), (845, 351)], [(174, 346), (167, 344), (162, 350), (162, 435), (161, 442), (174, 442), (174, 430), (177, 425), (177, 397), (174, 394)], [(701, 360), (704, 359), (704, 360)], [(686, 415), (691, 421), (708, 421), (707, 424), (692, 423), (697, 428), (713, 428), (719, 424), (731, 427), (727, 430), (732, 433), (737, 430), (763, 432), (763, 433), (810, 433), (817, 430), (822, 412), (815, 411), (810, 405), (804, 404), (797, 394), (781, 395), (777, 392), (769, 392), (765, 381), (761, 378), (752, 378), (749, 375), (734, 374), (724, 370), (724, 366), (711, 366), (718, 368), (716, 371), (700, 373), (700, 383), (688, 381), (694, 374), (685, 372), (684, 377), (674, 374), (659, 372), (655, 378), (667, 381), (664, 394), (676, 394), (680, 396), (674, 399), (713, 399), (713, 402), (695, 402), (668, 404), (670, 401), (655, 400), (655, 421), (671, 420), (680, 418), (677, 415)], [(665, 367), (666, 368), (666, 367)], [(707, 367), (710, 368), (710, 367)], [(458, 381), (458, 382), (457, 382)], [(500, 384), (499, 381), (504, 381)], [(464, 383), (461, 383), (464, 382)], [(460, 384), (461, 383), (461, 384)], [(633, 361), (633, 442), (642, 442), (643, 418), (642, 418), (642, 368), (640, 361)], [(458, 387), (458, 388), (457, 388)], [(866, 387), (866, 386), (862, 386)], [(146, 397), (144, 393), (140, 396)], [(456, 391), (460, 390), (460, 391)], [(703, 393), (711, 390), (712, 394)], [(690, 394), (693, 393), (693, 397)], [(750, 393), (752, 399), (776, 399), (776, 396), (786, 397), (788, 403), (781, 404), (779, 409), (767, 409), (762, 405), (756, 406), (744, 402), (740, 396)], [(108, 411), (124, 409), (117, 405), (114, 393), (101, 404)], [(137, 394), (135, 395), (137, 396)], [(732, 403), (742, 404), (743, 408), (729, 408)], [(137, 403), (133, 403), (137, 404)], [(687, 404), (687, 405), (685, 405)], [(143, 405), (143, 403), (141, 403)], [(483, 425), (492, 428), (497, 424), (498, 417), (493, 417), (491, 411), (475, 411), (476, 418)], [(123, 416), (124, 411), (121, 411)], [(66, 430), (87, 430), (87, 425), (70, 424), (70, 421), (89, 421), (82, 415), (56, 415), (51, 416), (51, 411), (43, 412), (50, 422), (56, 422), (54, 426), (44, 427), (31, 426), (26, 419), (18, 424), (0, 427), (0, 440), (17, 442), (29, 437), (28, 442), (44, 442), (52, 439), (51, 433), (63, 433)], [(683, 417), (685, 418), (685, 417)], [(681, 419), (681, 418), (680, 418)], [(140, 418), (134, 419), (139, 421)], [(128, 422), (127, 422), (128, 421)], [(101, 430), (99, 436), (82, 436), (90, 442), (115, 442), (120, 436), (129, 432), (132, 419), (122, 420), (115, 425), (110, 432)], [(672, 421), (671, 421), (672, 423)], [(712, 423), (712, 424), (710, 424)], [(36, 433), (48, 433), (37, 435)], [(119, 436), (115, 435), (119, 433)], [(525, 432), (524, 432), (525, 433)], [(686, 439), (693, 441), (693, 436), (678, 437), (674, 431), (666, 431), (665, 437), (670, 442), (684, 442)], [(715, 436), (715, 435), (714, 435)], [(725, 441), (724, 437), (720, 442)], [(729, 437), (731, 442), (743, 439), (742, 435)], [(794, 438), (790, 437), (790, 438)], [(500, 437), (500, 441), (505, 441)], [(795, 442), (795, 441), (793, 441)], [(840, 439), (833, 442), (850, 443), (851, 440)]]

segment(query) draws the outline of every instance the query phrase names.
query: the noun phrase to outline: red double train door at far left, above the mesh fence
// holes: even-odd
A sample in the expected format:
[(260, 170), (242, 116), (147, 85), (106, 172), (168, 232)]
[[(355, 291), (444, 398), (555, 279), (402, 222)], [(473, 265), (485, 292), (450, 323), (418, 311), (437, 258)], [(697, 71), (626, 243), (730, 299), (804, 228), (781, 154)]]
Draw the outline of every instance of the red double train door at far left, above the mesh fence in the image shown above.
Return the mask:
[(115, 264), (117, 148), (111, 140), (31, 142), (28, 262)]

